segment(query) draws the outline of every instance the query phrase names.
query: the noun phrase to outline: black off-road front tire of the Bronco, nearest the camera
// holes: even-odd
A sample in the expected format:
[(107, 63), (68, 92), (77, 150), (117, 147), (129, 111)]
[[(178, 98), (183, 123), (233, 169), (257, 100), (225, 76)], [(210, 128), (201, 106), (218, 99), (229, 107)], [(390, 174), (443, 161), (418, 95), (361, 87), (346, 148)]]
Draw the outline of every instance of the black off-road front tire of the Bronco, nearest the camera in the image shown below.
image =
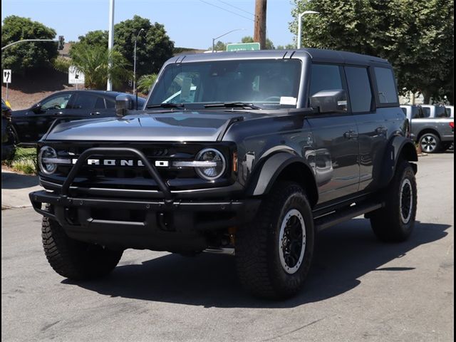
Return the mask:
[[(290, 212), (296, 213), (295, 217), (291, 217), (295, 223), (298, 222), (295, 227), (305, 229), (305, 235), (302, 234), (301, 237), (301, 246), (304, 245), (305, 248), (297, 249), (300, 256), (294, 263), (296, 270), (293, 274), (283, 266), (282, 263), (286, 264), (286, 261), (281, 260), (280, 254), (282, 253), (282, 258), (286, 254), (279, 247), (279, 240), (284, 242), (280, 238), (281, 227), (284, 222), (285, 227), (289, 227), (291, 219), (286, 221), (286, 217), (289, 217)], [(304, 228), (300, 222), (304, 222)], [(299, 241), (299, 237), (296, 241)], [(294, 182), (278, 182), (263, 199), (254, 222), (245, 224), (236, 234), (235, 255), (241, 284), (254, 296), (269, 299), (293, 296), (302, 288), (309, 273), (314, 244), (314, 219), (304, 190)], [(294, 246), (299, 248), (299, 243)], [(301, 256), (303, 249), (304, 254)]]

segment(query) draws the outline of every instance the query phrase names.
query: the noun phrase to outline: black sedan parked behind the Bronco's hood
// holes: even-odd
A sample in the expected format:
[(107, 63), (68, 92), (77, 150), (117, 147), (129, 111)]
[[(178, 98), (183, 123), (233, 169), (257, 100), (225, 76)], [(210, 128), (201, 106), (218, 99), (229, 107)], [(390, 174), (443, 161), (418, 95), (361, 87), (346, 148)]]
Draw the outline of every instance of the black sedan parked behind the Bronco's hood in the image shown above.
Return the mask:
[[(80, 120), (115, 116), (115, 97), (123, 93), (103, 90), (65, 90), (49, 95), (31, 108), (11, 113), (16, 142), (34, 146), (54, 120)], [(138, 108), (145, 99), (138, 98)]]

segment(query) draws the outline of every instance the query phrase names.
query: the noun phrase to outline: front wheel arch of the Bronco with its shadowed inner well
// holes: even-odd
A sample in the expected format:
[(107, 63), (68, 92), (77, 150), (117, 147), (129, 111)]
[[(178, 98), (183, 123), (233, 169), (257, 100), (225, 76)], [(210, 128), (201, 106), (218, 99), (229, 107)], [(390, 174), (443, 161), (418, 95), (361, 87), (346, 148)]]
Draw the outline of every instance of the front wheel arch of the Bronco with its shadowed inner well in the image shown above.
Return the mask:
[(275, 153), (261, 165), (261, 169), (256, 172), (247, 188), (247, 195), (266, 195), (279, 180), (288, 180), (301, 185), (306, 190), (311, 207), (318, 202), (314, 172), (303, 158), (289, 152)]

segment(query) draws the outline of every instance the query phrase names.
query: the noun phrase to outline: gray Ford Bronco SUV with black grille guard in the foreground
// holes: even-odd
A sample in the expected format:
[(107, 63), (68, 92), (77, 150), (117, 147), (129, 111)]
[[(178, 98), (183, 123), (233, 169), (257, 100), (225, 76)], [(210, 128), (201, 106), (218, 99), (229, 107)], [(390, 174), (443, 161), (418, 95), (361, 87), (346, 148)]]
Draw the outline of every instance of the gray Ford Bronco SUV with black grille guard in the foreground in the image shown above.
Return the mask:
[[(171, 58), (142, 110), (55, 123), (32, 192), (53, 269), (103, 276), (125, 249), (234, 254), (257, 296), (298, 292), (316, 232), (361, 214), (415, 224), (418, 160), (390, 64), (339, 51)], [(157, 280), (160, 281), (160, 280)]]

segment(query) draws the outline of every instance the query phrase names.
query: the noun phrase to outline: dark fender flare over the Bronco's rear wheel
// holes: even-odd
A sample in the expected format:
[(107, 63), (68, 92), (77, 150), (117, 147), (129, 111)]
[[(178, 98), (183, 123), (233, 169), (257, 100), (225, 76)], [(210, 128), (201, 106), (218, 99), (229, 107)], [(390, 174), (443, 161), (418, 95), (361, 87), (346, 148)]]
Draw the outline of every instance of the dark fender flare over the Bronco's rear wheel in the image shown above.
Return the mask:
[[(382, 176), (380, 178), (380, 187), (385, 187), (393, 179), (400, 157), (403, 157), (409, 162), (418, 162), (418, 153), (416, 152), (413, 141), (402, 135), (396, 135), (390, 140), (385, 150), (385, 156), (383, 157), (381, 166)], [(414, 163), (411, 165), (413, 172), (416, 174), (418, 172), (417, 165)]]

